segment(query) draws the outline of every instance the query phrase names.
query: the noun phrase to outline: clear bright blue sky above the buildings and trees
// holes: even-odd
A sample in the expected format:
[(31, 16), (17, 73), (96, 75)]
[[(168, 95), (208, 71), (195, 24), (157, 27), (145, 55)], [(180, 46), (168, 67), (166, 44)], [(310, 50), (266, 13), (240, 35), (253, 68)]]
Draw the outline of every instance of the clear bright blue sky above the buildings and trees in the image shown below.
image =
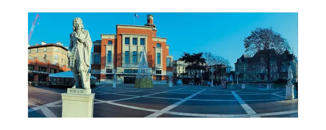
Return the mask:
[[(27, 35), (37, 13), (28, 13)], [(92, 41), (100, 34), (115, 34), (116, 24), (134, 24), (134, 13), (38, 13), (41, 18), (31, 38), (31, 45), (60, 41), (69, 45), (72, 20), (80, 17)], [(146, 24), (146, 15), (154, 15), (157, 36), (168, 38), (170, 55), (178, 59), (183, 52), (212, 52), (228, 59), (234, 66), (244, 53), (244, 38), (256, 27), (273, 27), (288, 39), (298, 57), (298, 13), (137, 13), (136, 25)], [(298, 58), (299, 59), (299, 58)]]

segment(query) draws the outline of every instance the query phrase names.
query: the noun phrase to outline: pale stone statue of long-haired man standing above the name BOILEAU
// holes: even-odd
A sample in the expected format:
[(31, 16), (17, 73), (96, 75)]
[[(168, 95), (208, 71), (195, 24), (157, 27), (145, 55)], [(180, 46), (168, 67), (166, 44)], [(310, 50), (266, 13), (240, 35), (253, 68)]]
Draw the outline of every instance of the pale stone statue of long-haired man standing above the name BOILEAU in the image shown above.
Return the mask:
[[(78, 88), (82, 84), (83, 89), (90, 89), (86, 86), (89, 76), (86, 76), (90, 67), (90, 56), (92, 49), (92, 40), (88, 30), (84, 30), (81, 18), (75, 18), (72, 21), (72, 30), (70, 34), (70, 45), (67, 53), (68, 66), (74, 75), (75, 85), (72, 88)], [(81, 83), (79, 83), (79, 78)]]

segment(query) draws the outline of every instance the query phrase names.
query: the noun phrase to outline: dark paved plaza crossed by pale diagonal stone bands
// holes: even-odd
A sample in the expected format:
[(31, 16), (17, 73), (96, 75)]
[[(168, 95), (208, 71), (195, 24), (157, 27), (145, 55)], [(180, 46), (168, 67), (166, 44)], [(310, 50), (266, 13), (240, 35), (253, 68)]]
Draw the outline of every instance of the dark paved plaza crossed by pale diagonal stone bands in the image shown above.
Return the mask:
[[(28, 118), (61, 118), (66, 89), (28, 86)], [(298, 118), (298, 99), (285, 100), (285, 89), (268, 91), (222, 89), (216, 86), (97, 85), (96, 119)]]

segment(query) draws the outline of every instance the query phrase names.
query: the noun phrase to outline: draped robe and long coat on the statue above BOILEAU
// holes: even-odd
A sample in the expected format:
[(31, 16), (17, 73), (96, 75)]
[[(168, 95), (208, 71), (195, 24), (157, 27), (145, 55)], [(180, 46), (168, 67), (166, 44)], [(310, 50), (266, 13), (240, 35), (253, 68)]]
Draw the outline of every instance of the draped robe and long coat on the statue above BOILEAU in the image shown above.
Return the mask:
[[(78, 39), (85, 39), (85, 43), (80, 43)], [(90, 56), (91, 56), (92, 40), (88, 30), (82, 30), (80, 34), (72, 32), (70, 34), (70, 45), (69, 51), (71, 56), (68, 62), (68, 66), (72, 72), (87, 72), (90, 67)]]

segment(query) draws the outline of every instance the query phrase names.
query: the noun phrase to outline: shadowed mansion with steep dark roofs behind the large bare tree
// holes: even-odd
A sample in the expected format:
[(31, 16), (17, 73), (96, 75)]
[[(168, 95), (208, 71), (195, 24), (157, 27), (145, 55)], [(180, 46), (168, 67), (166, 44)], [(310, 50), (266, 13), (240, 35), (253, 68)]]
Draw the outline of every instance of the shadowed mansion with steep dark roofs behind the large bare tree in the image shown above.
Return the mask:
[[(273, 51), (272, 51), (273, 52)], [(277, 60), (275, 59), (276, 53), (272, 53), (272, 57), (270, 59), (270, 81), (276, 81), (278, 79), (288, 78), (288, 67), (291, 65), (292, 67), (292, 83), (298, 81), (298, 59), (293, 54), (290, 54), (289, 51), (285, 51), (281, 54), (281, 58), (283, 58), (282, 68), (280, 73), (278, 73)], [(256, 53), (253, 57), (248, 57), (247, 55), (242, 55), (237, 62), (234, 63), (235, 73), (238, 73), (234, 79), (239, 82), (266, 82), (267, 79), (267, 68), (262, 60), (257, 60), (259, 58)]]

